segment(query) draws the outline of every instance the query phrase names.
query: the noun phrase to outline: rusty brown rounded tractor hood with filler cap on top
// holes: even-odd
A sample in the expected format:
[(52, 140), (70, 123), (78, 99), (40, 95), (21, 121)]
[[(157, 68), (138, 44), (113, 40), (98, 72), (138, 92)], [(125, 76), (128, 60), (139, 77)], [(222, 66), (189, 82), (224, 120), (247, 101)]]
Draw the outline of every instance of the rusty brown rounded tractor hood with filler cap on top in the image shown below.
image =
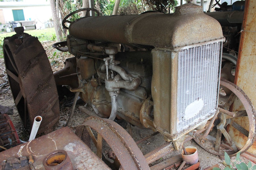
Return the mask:
[(204, 14), (196, 4), (176, 7), (174, 14), (153, 12), (81, 18), (70, 24), (69, 34), (79, 39), (156, 48), (175, 48), (223, 37), (219, 22)]

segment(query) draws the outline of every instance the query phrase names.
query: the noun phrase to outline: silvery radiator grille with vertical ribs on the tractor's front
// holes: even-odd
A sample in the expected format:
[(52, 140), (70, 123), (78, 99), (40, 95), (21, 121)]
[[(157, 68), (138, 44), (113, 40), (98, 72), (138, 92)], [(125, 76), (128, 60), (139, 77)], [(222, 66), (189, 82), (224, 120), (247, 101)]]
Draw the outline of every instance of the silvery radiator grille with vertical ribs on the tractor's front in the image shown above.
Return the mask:
[(208, 120), (217, 108), (222, 42), (178, 54), (177, 132)]

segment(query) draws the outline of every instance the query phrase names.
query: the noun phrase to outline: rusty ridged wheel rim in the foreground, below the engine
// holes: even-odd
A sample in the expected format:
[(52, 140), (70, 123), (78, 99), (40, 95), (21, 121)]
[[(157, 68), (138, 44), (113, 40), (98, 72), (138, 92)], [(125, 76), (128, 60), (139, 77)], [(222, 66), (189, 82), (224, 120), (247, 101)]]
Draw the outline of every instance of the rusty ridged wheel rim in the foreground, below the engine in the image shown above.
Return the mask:
[[(121, 165), (122, 169), (149, 169), (148, 163), (135, 141), (116, 122), (91, 116), (85, 119), (82, 126), (85, 126), (88, 130), (97, 148), (96, 154), (99, 158), (102, 158), (102, 139), (104, 139), (113, 150), (117, 164), (120, 163), (119, 165)], [(79, 129), (82, 128), (79, 127)], [(97, 134), (93, 133), (92, 130)]]

